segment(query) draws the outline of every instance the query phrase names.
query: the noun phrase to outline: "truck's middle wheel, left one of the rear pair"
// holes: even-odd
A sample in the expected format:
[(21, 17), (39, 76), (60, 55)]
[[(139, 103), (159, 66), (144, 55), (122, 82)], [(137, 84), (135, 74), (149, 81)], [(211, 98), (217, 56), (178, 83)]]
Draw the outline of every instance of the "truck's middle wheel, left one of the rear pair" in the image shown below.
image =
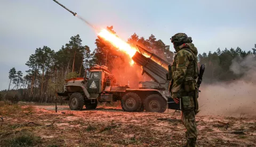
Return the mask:
[(135, 93), (126, 93), (121, 100), (121, 106), (124, 111), (135, 112), (141, 110), (141, 100)]

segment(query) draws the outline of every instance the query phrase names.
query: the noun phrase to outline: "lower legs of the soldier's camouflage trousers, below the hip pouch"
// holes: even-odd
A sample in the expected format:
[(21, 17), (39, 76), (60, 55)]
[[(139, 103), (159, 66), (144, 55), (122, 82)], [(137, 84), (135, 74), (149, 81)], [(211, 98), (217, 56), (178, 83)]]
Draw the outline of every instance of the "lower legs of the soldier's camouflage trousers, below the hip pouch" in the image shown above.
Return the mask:
[(195, 146), (197, 139), (197, 126), (195, 112), (192, 111), (182, 111), (181, 113), (182, 124), (186, 128), (186, 138), (189, 146)]

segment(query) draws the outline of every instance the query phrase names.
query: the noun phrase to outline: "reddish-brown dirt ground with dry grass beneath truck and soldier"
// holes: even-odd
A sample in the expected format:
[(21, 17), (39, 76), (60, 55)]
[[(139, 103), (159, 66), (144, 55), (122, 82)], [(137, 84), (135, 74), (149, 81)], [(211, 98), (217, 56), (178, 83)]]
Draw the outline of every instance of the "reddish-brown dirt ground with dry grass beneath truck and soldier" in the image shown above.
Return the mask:
[[(185, 127), (173, 110), (123, 112), (119, 107), (99, 106), (70, 111), (67, 105), (58, 105), (56, 113), (54, 105), (18, 104), (0, 106), (0, 117), (0, 146), (22, 146), (22, 142), (28, 146), (185, 144)], [(256, 118), (197, 116), (196, 120), (197, 146), (256, 146)], [(27, 138), (26, 132), (30, 133)]]

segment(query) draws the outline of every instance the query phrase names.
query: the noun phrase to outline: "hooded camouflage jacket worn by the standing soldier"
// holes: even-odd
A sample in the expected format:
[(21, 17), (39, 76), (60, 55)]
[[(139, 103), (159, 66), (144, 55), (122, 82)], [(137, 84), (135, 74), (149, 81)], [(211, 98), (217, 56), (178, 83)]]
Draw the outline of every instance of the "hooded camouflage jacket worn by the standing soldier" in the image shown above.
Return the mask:
[(193, 43), (182, 44), (178, 47), (172, 64), (172, 93), (178, 93), (183, 88), (185, 79), (197, 78), (197, 53), (197, 48)]

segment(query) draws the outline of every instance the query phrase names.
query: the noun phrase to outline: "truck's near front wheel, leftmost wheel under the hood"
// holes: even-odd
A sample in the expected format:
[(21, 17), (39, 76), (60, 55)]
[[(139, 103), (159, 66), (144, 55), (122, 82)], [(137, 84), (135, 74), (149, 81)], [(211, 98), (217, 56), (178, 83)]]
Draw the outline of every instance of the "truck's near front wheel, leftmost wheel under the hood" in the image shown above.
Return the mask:
[(73, 93), (70, 95), (69, 108), (71, 110), (82, 110), (84, 107), (84, 96), (81, 93)]

